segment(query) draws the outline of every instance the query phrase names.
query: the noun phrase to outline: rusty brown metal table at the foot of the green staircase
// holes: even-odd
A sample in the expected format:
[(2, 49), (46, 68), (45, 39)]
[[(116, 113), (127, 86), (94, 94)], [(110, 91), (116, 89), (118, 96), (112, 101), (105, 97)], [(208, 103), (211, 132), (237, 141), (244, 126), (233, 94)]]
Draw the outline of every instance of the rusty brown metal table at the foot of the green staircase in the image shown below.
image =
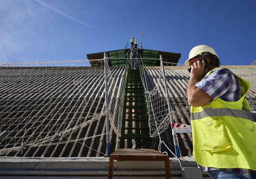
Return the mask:
[(117, 161), (165, 161), (166, 179), (171, 179), (169, 156), (154, 149), (117, 149), (109, 156), (108, 179), (113, 178), (113, 164)]

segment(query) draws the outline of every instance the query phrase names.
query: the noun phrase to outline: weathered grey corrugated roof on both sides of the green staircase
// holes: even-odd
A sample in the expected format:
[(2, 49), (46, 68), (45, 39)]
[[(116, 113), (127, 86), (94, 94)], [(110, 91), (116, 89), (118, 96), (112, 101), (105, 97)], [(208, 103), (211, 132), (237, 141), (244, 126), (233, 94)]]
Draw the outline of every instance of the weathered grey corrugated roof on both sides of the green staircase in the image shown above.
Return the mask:
[[(256, 112), (256, 66), (227, 67), (251, 84), (247, 99), (252, 111)], [(92, 68), (98, 70), (98, 73), (90, 73)], [(146, 66), (144, 69), (148, 89), (151, 90), (156, 85), (160, 85), (158, 89), (161, 92), (163, 87), (161, 83), (157, 83), (160, 66)], [(112, 65), (109, 70), (114, 81), (109, 85), (120, 88), (124, 67), (117, 65), (116, 62), (116, 66)], [(5, 152), (0, 153), (0, 156), (104, 156), (106, 135), (101, 134), (106, 133), (105, 116), (98, 116), (97, 120), (92, 120), (91, 117), (98, 111), (104, 110), (104, 106), (101, 105), (104, 96), (99, 94), (100, 89), (104, 89), (104, 78), (100, 76), (101, 72), (104, 72), (104, 67), (0, 68), (0, 151), (6, 149)], [(174, 118), (174, 121), (189, 125), (190, 112), (185, 90), (189, 72), (185, 66), (165, 66), (165, 73), (167, 85), (171, 91), (169, 95), (172, 108), (176, 113), (183, 114)], [(88, 84), (88, 86), (81, 87), (78, 81), (83, 81), (81, 84)], [(48, 141), (39, 140), (54, 133), (58, 134), (58, 131), (63, 129), (68, 131), (69, 127), (77, 125), (80, 120), (88, 121), (87, 125), (77, 127), (76, 130), (65, 134), (54, 135), (56, 138), (50, 138)], [(81, 122), (81, 124), (85, 123)], [(193, 151), (191, 133), (177, 135), (181, 155), (191, 156)], [(110, 128), (110, 137), (113, 152), (117, 137), (113, 127)], [(159, 137), (174, 152), (171, 128), (168, 127)], [(155, 149), (158, 149), (159, 137), (154, 138)], [(40, 144), (30, 146), (31, 138), (34, 141), (38, 140)], [(19, 144), (22, 148), (10, 149)], [(164, 145), (161, 148), (172, 156)]]

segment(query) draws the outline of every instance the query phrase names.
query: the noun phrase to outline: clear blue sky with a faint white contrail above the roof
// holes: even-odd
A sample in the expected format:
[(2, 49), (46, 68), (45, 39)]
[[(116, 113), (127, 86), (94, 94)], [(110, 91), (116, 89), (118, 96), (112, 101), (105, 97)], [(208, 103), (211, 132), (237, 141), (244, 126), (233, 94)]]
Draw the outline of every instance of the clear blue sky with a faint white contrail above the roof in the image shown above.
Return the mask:
[(69, 61), (143, 48), (181, 53), (213, 47), (221, 65), (256, 60), (256, 0), (0, 0), (0, 62)]

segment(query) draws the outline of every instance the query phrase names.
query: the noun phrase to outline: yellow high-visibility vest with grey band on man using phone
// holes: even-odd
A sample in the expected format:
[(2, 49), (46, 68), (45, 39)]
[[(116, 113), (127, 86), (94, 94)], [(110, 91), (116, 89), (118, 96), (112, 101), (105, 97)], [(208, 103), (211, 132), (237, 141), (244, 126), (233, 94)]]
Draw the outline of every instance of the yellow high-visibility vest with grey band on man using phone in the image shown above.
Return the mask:
[(204, 167), (256, 170), (256, 126), (245, 98), (250, 83), (234, 75), (243, 88), (238, 101), (191, 106), (193, 157)]

